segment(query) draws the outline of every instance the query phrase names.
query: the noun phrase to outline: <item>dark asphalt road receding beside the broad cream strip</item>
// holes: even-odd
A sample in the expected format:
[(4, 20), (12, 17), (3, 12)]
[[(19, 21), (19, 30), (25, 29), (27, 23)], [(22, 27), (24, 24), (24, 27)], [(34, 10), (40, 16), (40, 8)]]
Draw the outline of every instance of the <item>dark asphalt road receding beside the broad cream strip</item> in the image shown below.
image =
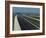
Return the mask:
[[(40, 21), (32, 20), (24, 15), (17, 15), (18, 22), (20, 24), (21, 30), (38, 30), (40, 29)], [(33, 18), (34, 19), (34, 18)]]

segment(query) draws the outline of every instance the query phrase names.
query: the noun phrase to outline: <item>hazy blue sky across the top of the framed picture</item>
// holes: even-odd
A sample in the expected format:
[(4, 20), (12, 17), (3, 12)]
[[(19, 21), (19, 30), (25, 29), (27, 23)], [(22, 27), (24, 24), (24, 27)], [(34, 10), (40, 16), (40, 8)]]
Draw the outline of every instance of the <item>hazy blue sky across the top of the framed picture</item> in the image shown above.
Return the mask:
[(13, 13), (40, 13), (40, 8), (13, 7)]

